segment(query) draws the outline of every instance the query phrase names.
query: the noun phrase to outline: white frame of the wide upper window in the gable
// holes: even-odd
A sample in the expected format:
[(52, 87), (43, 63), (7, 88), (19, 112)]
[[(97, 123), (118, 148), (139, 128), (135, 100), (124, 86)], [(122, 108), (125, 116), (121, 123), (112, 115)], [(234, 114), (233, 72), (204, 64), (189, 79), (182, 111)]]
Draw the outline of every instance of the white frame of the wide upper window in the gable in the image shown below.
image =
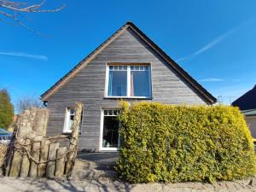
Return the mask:
[[(126, 94), (127, 96), (108, 96), (108, 83), (109, 83), (109, 66), (126, 66), (127, 67), (127, 86)], [(149, 78), (149, 96), (131, 96), (131, 66), (147, 66), (148, 68), (148, 78)], [(106, 98), (134, 98), (134, 99), (151, 99), (152, 98), (152, 82), (151, 82), (151, 66), (148, 64), (122, 64), (113, 65), (107, 64), (106, 68), (106, 79), (105, 79), (105, 93), (104, 97)]]

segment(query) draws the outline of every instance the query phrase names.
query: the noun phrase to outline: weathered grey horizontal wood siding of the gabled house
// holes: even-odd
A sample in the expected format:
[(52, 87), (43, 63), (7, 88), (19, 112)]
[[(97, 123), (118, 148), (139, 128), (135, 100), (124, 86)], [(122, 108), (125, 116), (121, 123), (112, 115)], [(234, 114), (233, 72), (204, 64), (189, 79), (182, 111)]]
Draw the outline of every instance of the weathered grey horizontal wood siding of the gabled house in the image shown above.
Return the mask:
[[(143, 101), (206, 104), (195, 90), (174, 73), (169, 64), (161, 60), (128, 28), (65, 86), (49, 96), (48, 135), (60, 134), (66, 108), (74, 106), (75, 102), (83, 102), (84, 117), (79, 148), (98, 150), (101, 109), (118, 108), (117, 100), (104, 98), (106, 66), (109, 62), (150, 63), (153, 98)], [(129, 99), (129, 102), (132, 101), (135, 100)]]

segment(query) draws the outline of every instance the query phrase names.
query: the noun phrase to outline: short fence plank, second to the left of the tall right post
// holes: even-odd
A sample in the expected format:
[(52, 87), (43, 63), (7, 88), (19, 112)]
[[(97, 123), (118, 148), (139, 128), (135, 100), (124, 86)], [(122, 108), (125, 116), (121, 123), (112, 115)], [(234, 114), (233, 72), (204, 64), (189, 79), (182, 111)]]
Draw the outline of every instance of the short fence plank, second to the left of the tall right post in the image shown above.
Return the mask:
[(59, 148), (59, 143), (51, 143), (49, 145), (49, 156), (48, 163), (46, 168), (46, 177), (54, 177), (55, 176), (55, 158), (56, 158), (56, 150)]

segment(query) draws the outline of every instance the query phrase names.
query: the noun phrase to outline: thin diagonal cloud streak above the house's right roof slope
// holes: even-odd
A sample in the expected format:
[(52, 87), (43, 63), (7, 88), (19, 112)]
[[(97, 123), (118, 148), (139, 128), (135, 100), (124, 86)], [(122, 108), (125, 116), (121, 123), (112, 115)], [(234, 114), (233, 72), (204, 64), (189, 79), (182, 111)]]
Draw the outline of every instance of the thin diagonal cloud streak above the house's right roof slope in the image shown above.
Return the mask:
[(206, 52), (208, 49), (211, 49), (216, 44), (223, 41), (225, 38), (228, 38), (233, 32), (236, 32), (237, 29), (239, 29), (243, 24), (231, 28), (228, 32), (224, 32), (221, 35), (219, 35), (217, 38), (214, 38), (211, 42), (203, 46), (201, 49), (196, 50), (194, 53), (178, 58), (176, 61), (183, 61), (188, 59), (193, 59), (196, 55), (201, 55), (202, 53)]

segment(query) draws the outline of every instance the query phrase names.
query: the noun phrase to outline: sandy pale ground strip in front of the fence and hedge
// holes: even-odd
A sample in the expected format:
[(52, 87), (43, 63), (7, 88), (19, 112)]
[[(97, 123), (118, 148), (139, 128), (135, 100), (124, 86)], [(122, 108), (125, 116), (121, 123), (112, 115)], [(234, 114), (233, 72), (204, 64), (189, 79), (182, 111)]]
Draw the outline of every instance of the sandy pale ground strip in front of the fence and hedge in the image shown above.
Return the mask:
[(214, 184), (208, 183), (147, 183), (147, 184), (129, 184), (111, 179), (83, 179), (83, 180), (65, 180), (65, 179), (46, 179), (46, 178), (14, 178), (1, 177), (0, 191), (8, 192), (32, 192), (32, 191), (133, 191), (133, 192), (253, 192), (256, 191), (255, 183), (249, 179), (236, 182), (220, 182)]

